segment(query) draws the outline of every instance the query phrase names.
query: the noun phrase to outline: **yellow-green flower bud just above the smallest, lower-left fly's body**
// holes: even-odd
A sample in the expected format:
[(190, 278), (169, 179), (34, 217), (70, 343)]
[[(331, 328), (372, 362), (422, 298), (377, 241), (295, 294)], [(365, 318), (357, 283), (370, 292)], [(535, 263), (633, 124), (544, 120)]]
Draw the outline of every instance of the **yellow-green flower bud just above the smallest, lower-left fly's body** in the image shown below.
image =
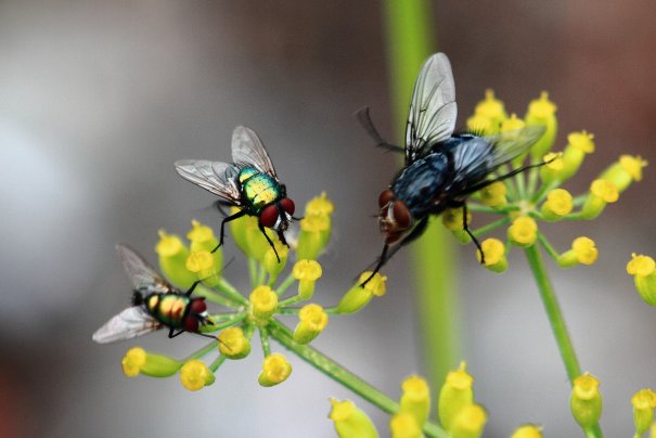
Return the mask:
[(159, 270), (173, 286), (186, 291), (197, 280), (196, 275), (186, 269), (189, 249), (180, 237), (159, 230), (159, 242), (155, 252), (159, 256)]

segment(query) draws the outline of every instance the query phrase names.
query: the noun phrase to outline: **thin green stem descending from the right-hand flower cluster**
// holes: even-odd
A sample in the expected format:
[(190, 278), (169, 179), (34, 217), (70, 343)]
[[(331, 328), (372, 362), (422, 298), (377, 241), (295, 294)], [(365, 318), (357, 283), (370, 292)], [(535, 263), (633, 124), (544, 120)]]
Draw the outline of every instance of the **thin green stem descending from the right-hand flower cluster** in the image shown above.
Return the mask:
[[(576, 357), (576, 352), (574, 351), (574, 346), (571, 344), (571, 339), (569, 338), (569, 334), (567, 333), (567, 326), (565, 325), (565, 319), (563, 318), (561, 306), (558, 305), (556, 295), (553, 291), (551, 282), (549, 281), (549, 275), (546, 273), (544, 261), (542, 260), (542, 255), (540, 254), (540, 248), (537, 245), (531, 245), (524, 249), (524, 252), (533, 276), (536, 278), (538, 291), (540, 292), (544, 310), (546, 310), (546, 317), (549, 318), (551, 330), (556, 338), (556, 344), (558, 346), (558, 350), (561, 351), (561, 358), (565, 364), (567, 377), (569, 378), (569, 384), (571, 386), (574, 385), (574, 379), (581, 374), (581, 368)], [(599, 424), (589, 430), (584, 430), (584, 433), (588, 437), (601, 438), (603, 436)]]

